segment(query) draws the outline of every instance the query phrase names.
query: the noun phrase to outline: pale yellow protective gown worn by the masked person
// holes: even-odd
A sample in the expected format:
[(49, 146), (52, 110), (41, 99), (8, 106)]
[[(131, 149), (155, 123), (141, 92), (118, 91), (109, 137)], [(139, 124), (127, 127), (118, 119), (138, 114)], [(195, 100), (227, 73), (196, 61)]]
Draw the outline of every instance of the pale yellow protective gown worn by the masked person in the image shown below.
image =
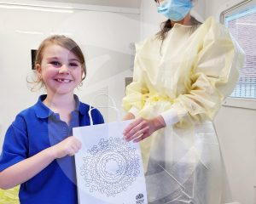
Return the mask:
[(137, 44), (133, 82), (123, 107), (143, 118), (165, 111), (178, 122), (141, 142), (148, 202), (219, 204), (221, 159), (212, 119), (231, 94), (244, 54), (227, 29), (207, 19), (175, 24), (162, 47), (157, 37)]

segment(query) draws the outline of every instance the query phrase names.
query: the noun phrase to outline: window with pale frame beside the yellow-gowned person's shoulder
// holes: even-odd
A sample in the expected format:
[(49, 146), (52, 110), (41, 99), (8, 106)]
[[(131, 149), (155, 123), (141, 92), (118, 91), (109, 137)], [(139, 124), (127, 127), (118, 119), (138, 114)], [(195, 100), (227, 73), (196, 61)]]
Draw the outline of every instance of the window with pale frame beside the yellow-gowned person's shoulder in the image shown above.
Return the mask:
[[(256, 109), (256, 0), (247, 0), (225, 10), (221, 21), (246, 54), (236, 88), (224, 105)], [(230, 103), (231, 99), (236, 99), (238, 105), (234, 105), (234, 101)], [(246, 101), (252, 101), (253, 105), (247, 106)]]

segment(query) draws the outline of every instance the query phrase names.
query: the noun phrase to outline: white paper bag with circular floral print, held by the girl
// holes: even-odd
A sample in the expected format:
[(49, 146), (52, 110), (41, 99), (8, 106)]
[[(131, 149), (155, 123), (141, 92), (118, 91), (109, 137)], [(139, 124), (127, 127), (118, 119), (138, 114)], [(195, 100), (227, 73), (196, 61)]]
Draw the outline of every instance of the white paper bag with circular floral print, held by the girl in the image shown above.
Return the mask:
[(75, 155), (80, 204), (148, 203), (139, 144), (123, 139), (130, 122), (73, 128), (82, 142)]

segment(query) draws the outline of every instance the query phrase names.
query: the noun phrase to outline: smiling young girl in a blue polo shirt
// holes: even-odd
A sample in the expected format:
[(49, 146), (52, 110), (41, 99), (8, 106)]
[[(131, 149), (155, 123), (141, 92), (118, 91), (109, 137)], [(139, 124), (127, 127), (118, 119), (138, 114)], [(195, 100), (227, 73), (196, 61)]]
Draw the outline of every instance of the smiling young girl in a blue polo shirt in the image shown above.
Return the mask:
[[(73, 155), (81, 143), (73, 127), (90, 124), (89, 105), (79, 101), (74, 88), (86, 75), (84, 55), (72, 39), (48, 37), (38, 48), (38, 82), (46, 88), (32, 107), (15, 118), (0, 156), (0, 188), (20, 184), (20, 203), (78, 203)], [(92, 111), (95, 124), (103, 122)]]

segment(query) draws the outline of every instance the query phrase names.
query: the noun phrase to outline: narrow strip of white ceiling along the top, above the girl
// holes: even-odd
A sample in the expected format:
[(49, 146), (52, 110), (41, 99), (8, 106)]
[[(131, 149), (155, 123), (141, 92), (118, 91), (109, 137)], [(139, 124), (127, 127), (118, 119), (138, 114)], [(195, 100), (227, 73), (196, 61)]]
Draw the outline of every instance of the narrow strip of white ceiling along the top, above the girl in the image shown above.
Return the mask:
[(81, 3), (109, 7), (140, 8), (141, 0), (40, 0), (44, 2)]

